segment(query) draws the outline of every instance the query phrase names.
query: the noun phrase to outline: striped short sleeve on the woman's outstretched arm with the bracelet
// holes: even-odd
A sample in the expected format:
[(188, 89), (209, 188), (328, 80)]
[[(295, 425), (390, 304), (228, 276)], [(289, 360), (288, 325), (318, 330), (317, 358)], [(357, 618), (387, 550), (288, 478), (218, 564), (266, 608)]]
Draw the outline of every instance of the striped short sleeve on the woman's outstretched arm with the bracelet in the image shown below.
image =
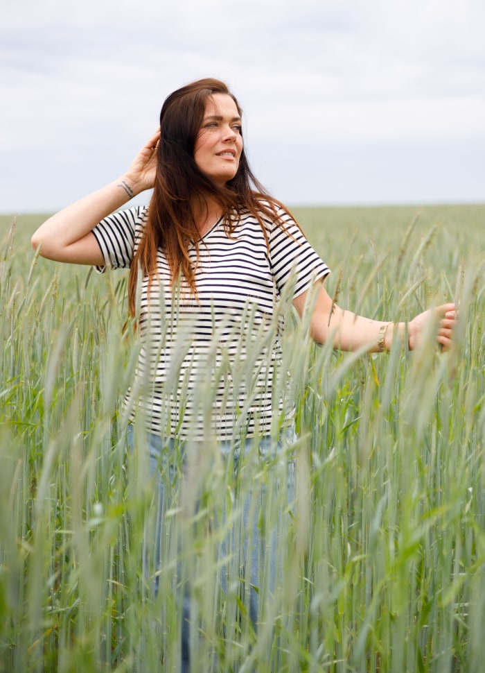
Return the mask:
[(270, 259), (279, 293), (291, 278), (293, 296), (310, 289), (313, 283), (330, 273), (330, 269), (310, 246), (303, 232), (288, 214), (283, 213), (285, 228), (274, 226), (270, 232)]

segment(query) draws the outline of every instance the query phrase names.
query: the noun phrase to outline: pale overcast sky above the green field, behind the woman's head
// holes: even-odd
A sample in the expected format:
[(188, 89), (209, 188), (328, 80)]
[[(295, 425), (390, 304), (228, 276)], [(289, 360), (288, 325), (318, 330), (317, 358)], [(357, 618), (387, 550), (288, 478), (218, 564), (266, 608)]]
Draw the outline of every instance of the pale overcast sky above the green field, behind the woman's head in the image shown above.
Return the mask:
[(7, 2), (0, 212), (114, 180), (206, 76), (288, 205), (485, 203), (484, 0)]

